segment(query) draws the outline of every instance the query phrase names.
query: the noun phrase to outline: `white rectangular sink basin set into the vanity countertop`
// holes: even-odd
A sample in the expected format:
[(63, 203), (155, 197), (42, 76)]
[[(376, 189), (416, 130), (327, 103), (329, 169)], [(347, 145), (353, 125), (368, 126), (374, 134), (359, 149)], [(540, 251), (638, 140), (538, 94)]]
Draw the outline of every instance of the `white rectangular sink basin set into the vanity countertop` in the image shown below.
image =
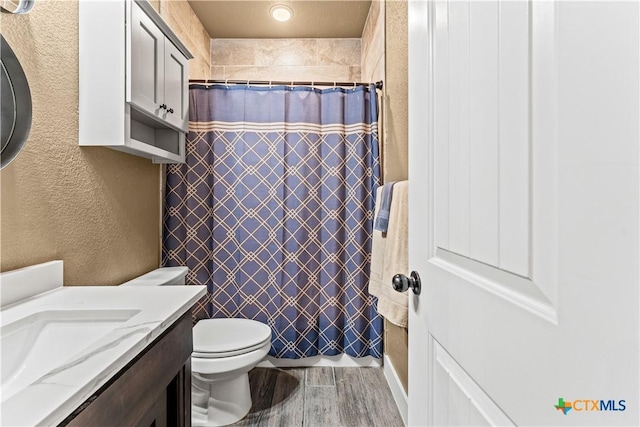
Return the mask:
[(3, 325), (0, 328), (2, 401), (42, 380), (51, 371), (74, 362), (75, 355), (139, 312), (47, 310)]

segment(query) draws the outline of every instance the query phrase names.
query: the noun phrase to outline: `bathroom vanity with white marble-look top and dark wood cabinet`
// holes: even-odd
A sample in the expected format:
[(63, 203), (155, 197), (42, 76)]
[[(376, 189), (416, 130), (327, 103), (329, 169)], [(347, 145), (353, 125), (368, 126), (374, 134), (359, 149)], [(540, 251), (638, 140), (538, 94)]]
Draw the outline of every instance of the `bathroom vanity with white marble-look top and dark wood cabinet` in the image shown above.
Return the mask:
[(0, 425), (189, 425), (204, 286), (62, 287), (61, 261), (22, 270), (0, 277)]

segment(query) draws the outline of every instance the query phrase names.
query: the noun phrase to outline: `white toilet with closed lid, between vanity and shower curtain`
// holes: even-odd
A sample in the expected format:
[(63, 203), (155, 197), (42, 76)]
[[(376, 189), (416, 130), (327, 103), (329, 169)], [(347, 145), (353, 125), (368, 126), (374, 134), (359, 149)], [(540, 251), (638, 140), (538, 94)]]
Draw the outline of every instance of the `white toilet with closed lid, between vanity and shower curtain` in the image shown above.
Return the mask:
[[(187, 267), (165, 267), (122, 286), (184, 285)], [(271, 348), (271, 329), (247, 319), (204, 319), (193, 328), (191, 422), (223, 426), (251, 409), (248, 372)]]

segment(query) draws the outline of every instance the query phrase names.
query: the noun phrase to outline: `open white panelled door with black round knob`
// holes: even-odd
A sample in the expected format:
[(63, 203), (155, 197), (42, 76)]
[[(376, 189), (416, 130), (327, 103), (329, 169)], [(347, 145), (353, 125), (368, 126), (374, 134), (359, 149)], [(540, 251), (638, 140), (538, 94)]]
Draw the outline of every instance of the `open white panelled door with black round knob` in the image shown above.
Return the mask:
[(639, 30), (410, 3), (410, 425), (640, 424)]

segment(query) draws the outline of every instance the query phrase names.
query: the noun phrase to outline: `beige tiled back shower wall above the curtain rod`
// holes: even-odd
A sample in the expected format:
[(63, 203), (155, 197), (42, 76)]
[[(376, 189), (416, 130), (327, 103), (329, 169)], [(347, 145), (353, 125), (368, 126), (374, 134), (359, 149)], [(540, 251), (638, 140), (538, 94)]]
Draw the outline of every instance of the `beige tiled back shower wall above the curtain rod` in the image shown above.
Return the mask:
[(211, 78), (360, 81), (360, 39), (212, 39)]

